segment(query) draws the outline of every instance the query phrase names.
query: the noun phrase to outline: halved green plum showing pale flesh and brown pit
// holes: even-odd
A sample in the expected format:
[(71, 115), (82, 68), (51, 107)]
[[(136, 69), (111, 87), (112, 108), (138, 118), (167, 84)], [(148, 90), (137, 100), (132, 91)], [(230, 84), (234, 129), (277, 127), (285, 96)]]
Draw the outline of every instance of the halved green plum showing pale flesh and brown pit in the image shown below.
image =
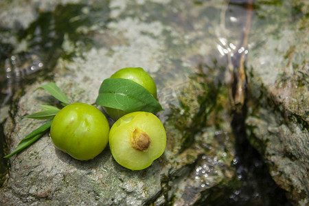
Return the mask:
[(157, 116), (137, 111), (113, 124), (108, 141), (117, 163), (130, 170), (143, 170), (163, 155), (166, 133)]

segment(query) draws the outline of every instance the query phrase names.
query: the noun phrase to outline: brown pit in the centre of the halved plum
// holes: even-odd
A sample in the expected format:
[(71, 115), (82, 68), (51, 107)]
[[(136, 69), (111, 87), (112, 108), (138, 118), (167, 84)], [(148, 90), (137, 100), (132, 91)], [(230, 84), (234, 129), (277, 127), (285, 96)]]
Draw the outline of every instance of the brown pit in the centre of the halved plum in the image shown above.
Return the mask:
[(150, 144), (151, 139), (150, 137), (144, 133), (142, 130), (135, 128), (133, 135), (132, 135), (131, 145), (135, 150), (139, 150), (141, 152), (147, 152)]

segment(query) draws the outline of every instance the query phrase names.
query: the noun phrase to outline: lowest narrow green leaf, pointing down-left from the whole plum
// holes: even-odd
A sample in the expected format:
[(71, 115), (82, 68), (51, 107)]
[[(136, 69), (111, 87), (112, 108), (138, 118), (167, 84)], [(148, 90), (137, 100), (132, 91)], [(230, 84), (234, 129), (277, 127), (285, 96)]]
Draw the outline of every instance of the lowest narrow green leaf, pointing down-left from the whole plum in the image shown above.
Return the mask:
[(52, 125), (52, 122), (53, 122), (52, 120), (50, 120), (49, 122), (46, 122), (45, 124), (37, 128), (36, 130), (32, 131), (32, 133), (24, 137), (21, 140), (21, 142), (19, 142), (19, 145), (17, 146), (16, 150), (12, 152), (10, 155), (6, 155), (4, 158), (12, 157), (16, 153), (21, 152), (21, 150), (27, 148), (27, 146), (30, 146), (31, 144), (33, 144), (34, 141), (38, 140), (40, 137), (42, 137), (45, 134), (45, 132)]

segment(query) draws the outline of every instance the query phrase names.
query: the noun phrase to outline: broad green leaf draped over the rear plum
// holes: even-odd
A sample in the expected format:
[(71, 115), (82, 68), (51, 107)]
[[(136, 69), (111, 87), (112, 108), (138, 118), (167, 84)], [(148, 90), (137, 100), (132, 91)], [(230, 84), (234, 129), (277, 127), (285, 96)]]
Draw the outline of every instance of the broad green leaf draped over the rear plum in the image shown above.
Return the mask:
[(95, 104), (117, 108), (128, 113), (163, 110), (161, 104), (140, 84), (123, 78), (108, 78), (101, 84)]

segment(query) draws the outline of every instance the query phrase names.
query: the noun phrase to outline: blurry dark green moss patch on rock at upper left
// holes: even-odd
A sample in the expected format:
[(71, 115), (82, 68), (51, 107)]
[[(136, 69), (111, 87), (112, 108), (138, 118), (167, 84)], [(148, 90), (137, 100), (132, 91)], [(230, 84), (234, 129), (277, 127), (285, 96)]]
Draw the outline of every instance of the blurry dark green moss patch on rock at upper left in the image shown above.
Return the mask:
[[(101, 21), (108, 23), (108, 1), (102, 3), (102, 10), (91, 8), (87, 4), (66, 4), (57, 5), (52, 12), (38, 12), (38, 18), (32, 22), (25, 30), (19, 30), (17, 35), (19, 41), (27, 39), (27, 47), (36, 49), (45, 55), (45, 59), (55, 62), (59, 57), (71, 58), (76, 55), (76, 45), (82, 43), (83, 49), (91, 49), (95, 45), (92, 35), (79, 30), (80, 27), (91, 27), (91, 25)], [(88, 12), (83, 12), (89, 10)], [(98, 13), (100, 12), (100, 16)], [(99, 18), (98, 18), (99, 17)], [(62, 48), (65, 36), (71, 41), (72, 52), (67, 52)], [(45, 62), (45, 61), (44, 61)], [(54, 64), (49, 62), (49, 64)]]

